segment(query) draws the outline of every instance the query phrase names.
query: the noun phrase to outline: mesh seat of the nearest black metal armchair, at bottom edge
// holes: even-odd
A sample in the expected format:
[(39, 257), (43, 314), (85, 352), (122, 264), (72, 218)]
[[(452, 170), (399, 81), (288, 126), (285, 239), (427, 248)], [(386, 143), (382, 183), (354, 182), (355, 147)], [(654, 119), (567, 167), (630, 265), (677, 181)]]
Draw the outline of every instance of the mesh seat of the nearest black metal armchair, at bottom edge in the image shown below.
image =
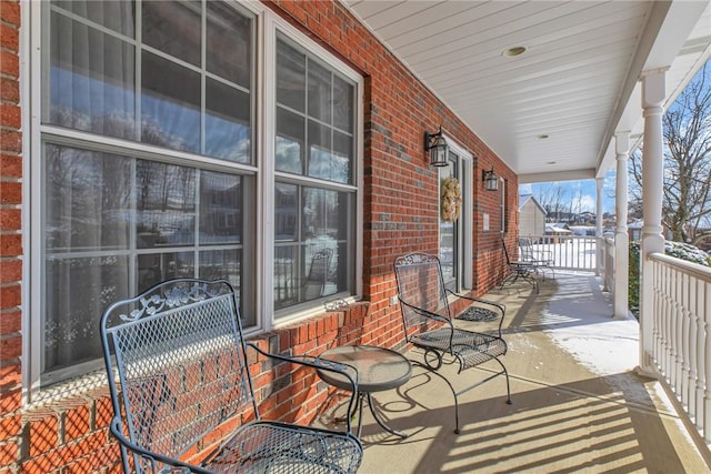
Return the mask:
[(352, 436), (260, 421), (239, 430), (203, 466), (218, 473), (349, 473), (361, 456)]

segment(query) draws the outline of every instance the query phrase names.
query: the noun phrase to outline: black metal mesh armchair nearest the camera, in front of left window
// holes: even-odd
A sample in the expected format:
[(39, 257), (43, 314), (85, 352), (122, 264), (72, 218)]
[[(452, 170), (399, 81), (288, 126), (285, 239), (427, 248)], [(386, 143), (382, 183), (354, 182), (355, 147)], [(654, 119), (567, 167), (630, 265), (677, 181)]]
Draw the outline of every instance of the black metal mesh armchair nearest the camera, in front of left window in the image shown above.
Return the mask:
[(344, 432), (260, 417), (248, 346), (274, 365), (299, 364), (349, 381), (349, 413), (358, 384), (344, 364), (270, 354), (246, 342), (228, 282), (160, 283), (111, 305), (101, 334), (114, 411), (110, 427), (124, 472), (311, 474), (360, 466), (362, 445), (349, 417)]

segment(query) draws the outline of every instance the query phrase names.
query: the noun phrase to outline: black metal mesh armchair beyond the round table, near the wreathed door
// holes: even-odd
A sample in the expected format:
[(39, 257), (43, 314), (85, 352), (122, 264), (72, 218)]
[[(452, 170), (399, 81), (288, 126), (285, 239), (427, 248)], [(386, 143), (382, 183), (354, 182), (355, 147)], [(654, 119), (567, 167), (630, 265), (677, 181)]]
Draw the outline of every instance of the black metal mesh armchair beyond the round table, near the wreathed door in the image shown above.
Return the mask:
[[(499, 357), (507, 353), (507, 343), (501, 337), (501, 325), (505, 316), (505, 306), (487, 300), (457, 295), (445, 289), (440, 261), (435, 255), (412, 252), (398, 256), (394, 261), (398, 299), (404, 324), (404, 335), (409, 343), (424, 350), (424, 362), (413, 361), (447, 382), (454, 395), (454, 433), (459, 433), (458, 396), (490, 380), (504, 375), (507, 381), (507, 403), (511, 404), (509, 373)], [(448, 296), (463, 297), (475, 307), (495, 313), (499, 320), (489, 323), (497, 329), (493, 333), (473, 332), (455, 327), (450, 313)], [(445, 360), (445, 356), (448, 360)], [(452, 359), (449, 359), (451, 356)], [(475, 367), (489, 361), (495, 361), (500, 370), (474, 384), (455, 391), (450, 381), (437, 372), (443, 362), (459, 362), (459, 372)]]

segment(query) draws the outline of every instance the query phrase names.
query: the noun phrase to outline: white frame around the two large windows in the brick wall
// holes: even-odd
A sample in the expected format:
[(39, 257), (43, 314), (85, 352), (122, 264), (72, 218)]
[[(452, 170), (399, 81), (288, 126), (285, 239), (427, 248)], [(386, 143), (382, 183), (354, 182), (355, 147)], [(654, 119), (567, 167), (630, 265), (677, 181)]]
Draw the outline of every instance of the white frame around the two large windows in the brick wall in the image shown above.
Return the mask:
[[(254, 165), (247, 165), (240, 163), (229, 163), (226, 165), (224, 161), (204, 158), (196, 162), (206, 162), (217, 168), (234, 168), (241, 169), (257, 175), (257, 203), (256, 203), (256, 269), (254, 281), (259, 282), (259, 288), (256, 293), (256, 312), (257, 312), (257, 325), (250, 331), (248, 335), (269, 331), (273, 329), (273, 299), (271, 295), (272, 289), (272, 270), (273, 269), (273, 244), (274, 244), (274, 225), (273, 225), (273, 212), (274, 212), (274, 179), (276, 170), (273, 160), (268, 160), (266, 157), (273, 157), (274, 154), (274, 137), (276, 137), (276, 113), (268, 111), (276, 111), (276, 94), (270, 92), (276, 89), (276, 44), (277, 32), (281, 32), (288, 37), (294, 43), (298, 43), (308, 52), (317, 56), (322, 62), (327, 63), (330, 68), (333, 68), (343, 77), (348, 78), (356, 84), (354, 93), (354, 107), (356, 107), (356, 121), (354, 121), (354, 179), (352, 185), (341, 186), (342, 189), (350, 189), (356, 193), (356, 222), (353, 234), (353, 252), (356, 262), (354, 269), (349, 269), (354, 272), (354, 289), (353, 294), (347, 300), (359, 300), (362, 295), (362, 265), (359, 262), (362, 261), (363, 249), (363, 78), (346, 63), (332, 56), (328, 50), (310, 40), (306, 34), (296, 29), (292, 24), (281, 19), (272, 10), (266, 8), (260, 2), (246, 1), (241, 2), (242, 8), (248, 9), (254, 14), (256, 21), (256, 36), (254, 36), (254, 52), (257, 54), (254, 73), (254, 83), (252, 88), (253, 104), (254, 104), (254, 149), (256, 149), (256, 162)], [(26, 157), (41, 157), (43, 147), (43, 137), (52, 137), (58, 143), (71, 144), (77, 139), (81, 139), (87, 142), (87, 134), (81, 131), (63, 130), (53, 125), (42, 125), (42, 100), (41, 91), (44, 79), (41, 77), (42, 62), (48, 60), (49, 51), (44, 51), (42, 48), (42, 31), (41, 27), (44, 22), (49, 21), (46, 9), (43, 9), (40, 2), (29, 2), (27, 8), (21, 11), (22, 24), (27, 24), (28, 28), (23, 28), (21, 32), (21, 42), (23, 44), (20, 48), (21, 56), (21, 72), (28, 81), (23, 81), (21, 98), (22, 103), (26, 104), (23, 113), (23, 129), (27, 130), (22, 137), (22, 147), (26, 150)], [(37, 52), (39, 51), (39, 52)], [(89, 138), (88, 141), (94, 140), (97, 145), (104, 150), (118, 147), (124, 148), (126, 142), (111, 139), (109, 137), (103, 138)], [(151, 147), (143, 143), (133, 143), (131, 149), (149, 154)], [(164, 151), (164, 150), (163, 150)], [(176, 157), (176, 164), (188, 164), (194, 158), (193, 155), (186, 155), (180, 151), (164, 151), (168, 154)], [(183, 161), (187, 160), (187, 161)], [(58, 390), (54, 386), (41, 387), (40, 376), (41, 374), (41, 361), (43, 347), (41, 345), (43, 324), (37, 322), (42, 321), (42, 307), (41, 301), (43, 300), (42, 279), (34, 278), (41, 275), (44, 264), (44, 255), (42, 254), (42, 219), (43, 210), (41, 210), (42, 202), (42, 173), (41, 173), (41, 160), (27, 159), (23, 160), (23, 175), (28, 177), (23, 186), (22, 202), (27, 203), (22, 209), (22, 219), (26, 223), (22, 233), (23, 248), (28, 249), (26, 254), (26, 264), (23, 265), (22, 280), (27, 282), (22, 285), (22, 331), (28, 334), (22, 342), (22, 354), (24, 363), (22, 364), (22, 386), (23, 386), (23, 403), (31, 404), (37, 400), (42, 402), (46, 397), (54, 396), (53, 393), (59, 393), (60, 396), (69, 395), (73, 391), (86, 390), (88, 386), (101, 385), (106, 383), (106, 375), (100, 373), (89, 374), (82, 371), (82, 365), (78, 364), (69, 369), (69, 372), (74, 372), (78, 379), (74, 381), (67, 381), (67, 384), (60, 384), (61, 389)], [(310, 309), (306, 309), (299, 312), (294, 312), (289, 317), (279, 320), (279, 324), (292, 323), (294, 320), (303, 319), (317, 313), (322, 313), (323, 306), (321, 302), (314, 303)], [(69, 387), (67, 386), (69, 385)], [(72, 389), (73, 387), (73, 389)]]

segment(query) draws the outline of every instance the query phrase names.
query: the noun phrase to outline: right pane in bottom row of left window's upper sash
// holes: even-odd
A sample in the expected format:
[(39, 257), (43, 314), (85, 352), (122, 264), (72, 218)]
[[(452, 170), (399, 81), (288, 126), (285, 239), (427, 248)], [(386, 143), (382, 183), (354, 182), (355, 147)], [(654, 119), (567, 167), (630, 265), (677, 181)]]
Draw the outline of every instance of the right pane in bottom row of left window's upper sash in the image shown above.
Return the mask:
[(208, 79), (206, 101), (206, 153), (238, 163), (251, 163), (249, 94)]

